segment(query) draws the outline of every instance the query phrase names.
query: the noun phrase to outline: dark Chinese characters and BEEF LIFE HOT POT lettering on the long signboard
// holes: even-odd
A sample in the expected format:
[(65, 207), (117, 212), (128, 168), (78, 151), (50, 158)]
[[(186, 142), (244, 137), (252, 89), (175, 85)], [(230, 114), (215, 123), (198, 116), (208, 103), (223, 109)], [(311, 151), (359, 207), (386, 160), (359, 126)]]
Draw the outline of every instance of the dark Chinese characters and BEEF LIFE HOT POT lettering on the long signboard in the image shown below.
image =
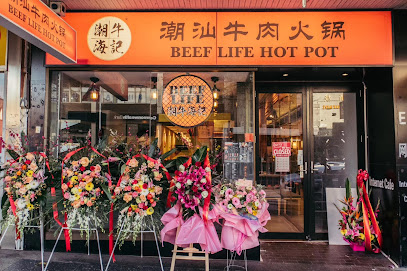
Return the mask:
[[(205, 27), (202, 26), (202, 34), (200, 35), (200, 39), (205, 37), (213, 37), (215, 38), (215, 26), (212, 28), (213, 35), (209, 35), (209, 22), (207, 23), (206, 34), (204, 35)], [(320, 25), (313, 25), (314, 30), (319, 29), (320, 33), (320, 40), (324, 40), (326, 38), (330, 39), (342, 39), (345, 40), (345, 22), (342, 21), (334, 21), (334, 22), (327, 22), (324, 21)], [(174, 23), (171, 22), (162, 22), (161, 32), (165, 32), (161, 34), (160, 39), (168, 38), (169, 40), (176, 40), (178, 37), (183, 41), (184, 40), (184, 30), (185, 30), (185, 23)], [(194, 23), (194, 26), (199, 26), (199, 23)], [(192, 26), (191, 26), (192, 27)], [(287, 34), (289, 40), (295, 40), (300, 37), (304, 37), (306, 40), (312, 40), (314, 38), (313, 35), (307, 34), (307, 29), (311, 28), (308, 23), (304, 23), (301, 20), (298, 21), (297, 24), (292, 25), (290, 27), (290, 33), (280, 33), (279, 34), (279, 23), (271, 23), (271, 22), (260, 22), (257, 24), (256, 29), (256, 40), (267, 39), (269, 41), (272, 40), (279, 40), (279, 35), (281, 39), (281, 35)], [(238, 43), (239, 38), (247, 36), (249, 31), (246, 30), (246, 25), (239, 21), (228, 22), (226, 27), (223, 27), (223, 36), (231, 36), (233, 42)], [(193, 29), (193, 32), (197, 32), (198, 29)], [(196, 38), (199, 36), (195, 34), (192, 38)], [(259, 51), (259, 57), (296, 57), (298, 54), (303, 54), (304, 57), (336, 57), (338, 53), (339, 47), (338, 46), (304, 46), (302, 48), (302, 52), (299, 51), (298, 46), (277, 46), (277, 47), (263, 47), (261, 46)], [(207, 57), (213, 51), (212, 47), (171, 47), (171, 57)], [(217, 48), (217, 57), (218, 58), (252, 58), (256, 57), (255, 48), (253, 46), (218, 46)]]

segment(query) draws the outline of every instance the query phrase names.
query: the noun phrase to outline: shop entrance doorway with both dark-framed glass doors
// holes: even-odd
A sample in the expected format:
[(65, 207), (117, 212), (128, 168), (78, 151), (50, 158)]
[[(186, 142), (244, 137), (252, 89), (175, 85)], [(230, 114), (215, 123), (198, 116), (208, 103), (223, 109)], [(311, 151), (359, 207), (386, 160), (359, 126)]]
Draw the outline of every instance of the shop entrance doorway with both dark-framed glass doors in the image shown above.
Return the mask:
[(257, 183), (265, 186), (271, 214), (263, 237), (327, 239), (326, 188), (345, 187), (363, 163), (357, 87), (273, 84), (260, 89)]

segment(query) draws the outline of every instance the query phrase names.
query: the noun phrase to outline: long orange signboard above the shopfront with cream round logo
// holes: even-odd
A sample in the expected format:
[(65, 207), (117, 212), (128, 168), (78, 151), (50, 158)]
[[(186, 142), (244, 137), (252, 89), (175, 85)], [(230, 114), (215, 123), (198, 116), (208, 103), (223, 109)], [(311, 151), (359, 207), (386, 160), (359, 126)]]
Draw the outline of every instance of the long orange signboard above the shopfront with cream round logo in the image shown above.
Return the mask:
[[(82, 65), (393, 64), (389, 11), (68, 13), (66, 21), (78, 29)], [(63, 63), (47, 56), (47, 64)]]

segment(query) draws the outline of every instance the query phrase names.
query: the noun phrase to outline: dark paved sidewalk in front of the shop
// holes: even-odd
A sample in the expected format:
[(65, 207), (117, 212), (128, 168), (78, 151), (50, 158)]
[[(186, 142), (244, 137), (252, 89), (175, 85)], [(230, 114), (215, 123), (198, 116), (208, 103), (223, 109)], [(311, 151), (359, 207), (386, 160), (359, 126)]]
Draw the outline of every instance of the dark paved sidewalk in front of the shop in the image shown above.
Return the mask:
[[(49, 252), (45, 253), (45, 259)], [(391, 270), (393, 264), (382, 254), (353, 252), (349, 246), (329, 246), (325, 242), (263, 242), (263, 261), (249, 261), (250, 271), (302, 271), (302, 270)], [(0, 250), (0, 271), (41, 270), (39, 251)], [(106, 266), (108, 255), (103, 255)], [(165, 270), (170, 269), (171, 259), (163, 258)], [(238, 264), (243, 264), (239, 261)], [(226, 260), (211, 259), (210, 270), (224, 270)], [(97, 254), (58, 252), (49, 266), (50, 271), (97, 271), (100, 270)], [(159, 271), (157, 257), (118, 255), (112, 271)], [(203, 262), (177, 261), (175, 270), (201, 271)], [(226, 270), (226, 269), (225, 269)], [(232, 269), (243, 270), (243, 269)]]

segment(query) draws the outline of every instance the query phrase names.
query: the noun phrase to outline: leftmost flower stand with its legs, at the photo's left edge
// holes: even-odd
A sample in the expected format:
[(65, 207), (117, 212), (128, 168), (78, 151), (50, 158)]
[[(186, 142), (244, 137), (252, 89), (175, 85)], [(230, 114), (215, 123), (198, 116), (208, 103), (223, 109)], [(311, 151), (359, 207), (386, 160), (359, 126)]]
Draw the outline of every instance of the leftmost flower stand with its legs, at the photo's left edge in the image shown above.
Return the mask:
[[(41, 199), (46, 191), (45, 170), (50, 170), (48, 158), (42, 152), (29, 152), (10, 161), (6, 165), (6, 176), (4, 178), (5, 191), (10, 202), (12, 220), (8, 224), (0, 238), (0, 245), (11, 226), (15, 229), (16, 249), (22, 250), (24, 229), (32, 228), (40, 231), (41, 246), (41, 270), (44, 269), (44, 213), (42, 211)], [(38, 217), (31, 218), (34, 210), (38, 208)], [(37, 220), (39, 225), (29, 225)]]

